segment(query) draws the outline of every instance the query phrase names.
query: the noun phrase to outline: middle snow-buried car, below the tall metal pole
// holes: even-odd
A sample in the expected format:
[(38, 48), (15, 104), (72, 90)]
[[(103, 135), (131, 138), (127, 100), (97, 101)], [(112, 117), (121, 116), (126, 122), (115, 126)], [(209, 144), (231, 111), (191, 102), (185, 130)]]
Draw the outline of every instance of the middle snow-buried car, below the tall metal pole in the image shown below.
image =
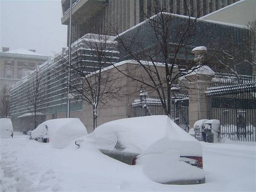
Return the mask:
[(77, 118), (47, 120), (30, 132), (30, 139), (51, 143), (54, 148), (65, 148), (78, 137), (87, 135), (84, 124)]

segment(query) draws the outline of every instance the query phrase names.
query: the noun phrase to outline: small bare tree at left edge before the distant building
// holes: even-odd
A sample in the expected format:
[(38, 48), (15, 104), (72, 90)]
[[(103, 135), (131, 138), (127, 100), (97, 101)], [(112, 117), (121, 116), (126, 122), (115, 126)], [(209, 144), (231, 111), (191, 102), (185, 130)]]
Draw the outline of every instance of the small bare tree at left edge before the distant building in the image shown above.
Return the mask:
[(10, 89), (5, 86), (3, 87), (3, 95), (0, 98), (0, 116), (9, 117), (10, 111)]

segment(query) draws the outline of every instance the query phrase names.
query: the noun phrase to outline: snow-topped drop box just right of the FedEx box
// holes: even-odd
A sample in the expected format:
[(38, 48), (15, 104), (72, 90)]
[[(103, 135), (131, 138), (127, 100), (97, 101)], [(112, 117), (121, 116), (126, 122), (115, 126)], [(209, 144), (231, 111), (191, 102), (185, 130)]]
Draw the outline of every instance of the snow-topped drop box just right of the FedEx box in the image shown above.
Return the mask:
[[(218, 119), (210, 119), (204, 122), (204, 132), (206, 134), (206, 142), (218, 143), (220, 134), (220, 121)], [(209, 135), (207, 137), (207, 135)], [(207, 141), (208, 139), (208, 141)], [(210, 142), (212, 141), (212, 142)]]

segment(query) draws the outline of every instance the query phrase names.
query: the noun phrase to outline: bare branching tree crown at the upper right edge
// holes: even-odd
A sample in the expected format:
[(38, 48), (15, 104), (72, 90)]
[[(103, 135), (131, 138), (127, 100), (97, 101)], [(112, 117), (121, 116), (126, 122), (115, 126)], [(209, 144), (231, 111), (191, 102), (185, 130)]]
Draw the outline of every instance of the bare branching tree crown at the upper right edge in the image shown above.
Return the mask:
[(220, 43), (221, 49), (215, 55), (221, 72), (230, 73), (240, 79), (240, 75), (251, 74), (256, 67), (256, 21), (248, 23), (247, 31), (241, 32), (241, 41), (233, 41), (237, 35), (234, 31), (227, 32)]

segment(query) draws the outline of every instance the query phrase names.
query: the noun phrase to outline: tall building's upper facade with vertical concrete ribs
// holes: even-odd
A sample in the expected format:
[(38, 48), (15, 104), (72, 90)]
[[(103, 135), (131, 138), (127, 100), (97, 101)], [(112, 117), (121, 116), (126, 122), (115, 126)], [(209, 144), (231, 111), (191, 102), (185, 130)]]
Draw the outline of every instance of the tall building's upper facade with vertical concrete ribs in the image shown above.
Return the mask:
[[(110, 34), (124, 32), (151, 17), (157, 10), (178, 15), (202, 17), (238, 0), (73, 0), (71, 41), (87, 33)], [(69, 0), (61, 0), (61, 23), (69, 25)], [(69, 33), (69, 26), (67, 29)], [(69, 35), (69, 34), (68, 34)], [(67, 35), (67, 36), (68, 36)]]

